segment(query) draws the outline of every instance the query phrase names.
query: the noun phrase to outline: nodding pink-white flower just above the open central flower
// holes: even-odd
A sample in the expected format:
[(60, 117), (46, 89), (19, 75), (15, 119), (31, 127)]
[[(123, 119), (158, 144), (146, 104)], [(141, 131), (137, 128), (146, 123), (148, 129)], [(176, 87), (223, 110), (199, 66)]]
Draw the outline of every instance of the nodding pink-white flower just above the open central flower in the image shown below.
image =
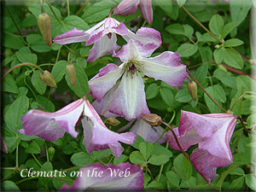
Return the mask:
[(110, 55), (113, 51), (119, 49), (119, 45), (116, 44), (116, 34), (124, 36), (127, 33), (128, 29), (124, 23), (108, 17), (86, 32), (74, 28), (69, 32), (58, 35), (55, 37), (54, 43), (72, 44), (86, 41), (86, 46), (94, 44), (87, 58), (87, 62), (91, 62), (96, 61), (97, 58), (103, 55)]

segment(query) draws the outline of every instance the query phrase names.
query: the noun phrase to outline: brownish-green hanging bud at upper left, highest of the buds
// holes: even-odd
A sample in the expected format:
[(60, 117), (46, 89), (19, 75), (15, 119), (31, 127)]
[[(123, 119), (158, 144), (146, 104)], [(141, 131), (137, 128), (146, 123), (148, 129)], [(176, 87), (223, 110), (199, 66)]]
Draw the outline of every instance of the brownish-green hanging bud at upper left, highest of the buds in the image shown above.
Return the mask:
[(38, 15), (38, 27), (43, 35), (45, 43), (51, 46), (51, 20), (48, 14), (43, 13)]

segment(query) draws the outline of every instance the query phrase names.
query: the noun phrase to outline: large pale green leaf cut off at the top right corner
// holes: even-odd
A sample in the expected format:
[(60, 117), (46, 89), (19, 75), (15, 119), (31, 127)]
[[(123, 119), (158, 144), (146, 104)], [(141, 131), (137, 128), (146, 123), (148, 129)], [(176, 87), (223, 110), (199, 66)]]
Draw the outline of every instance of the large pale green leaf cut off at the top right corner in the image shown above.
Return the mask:
[(247, 17), (248, 11), (252, 7), (252, 1), (230, 0), (230, 14), (236, 25), (239, 26), (242, 20)]

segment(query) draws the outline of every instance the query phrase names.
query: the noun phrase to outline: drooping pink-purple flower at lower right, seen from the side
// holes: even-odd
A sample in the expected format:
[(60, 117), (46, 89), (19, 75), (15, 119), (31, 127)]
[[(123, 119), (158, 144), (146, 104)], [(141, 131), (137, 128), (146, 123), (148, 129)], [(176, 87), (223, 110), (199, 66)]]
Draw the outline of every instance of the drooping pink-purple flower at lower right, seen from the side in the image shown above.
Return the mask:
[[(217, 167), (232, 163), (230, 138), (236, 126), (236, 118), (229, 113), (197, 114), (182, 111), (177, 128), (173, 129), (178, 141), (187, 150), (198, 143), (190, 155), (190, 160), (197, 172), (208, 183), (212, 183)], [(179, 150), (172, 132), (166, 132), (166, 139), (171, 147)]]

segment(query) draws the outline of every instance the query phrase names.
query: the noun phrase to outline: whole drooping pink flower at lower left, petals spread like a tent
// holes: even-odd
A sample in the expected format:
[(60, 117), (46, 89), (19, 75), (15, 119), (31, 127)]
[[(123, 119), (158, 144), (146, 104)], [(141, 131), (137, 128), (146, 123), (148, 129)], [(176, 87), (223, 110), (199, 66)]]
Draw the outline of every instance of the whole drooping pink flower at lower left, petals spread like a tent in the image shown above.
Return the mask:
[(108, 130), (90, 102), (84, 98), (72, 102), (55, 113), (32, 109), (21, 118), (23, 129), (19, 132), (26, 136), (38, 136), (49, 142), (63, 137), (68, 132), (78, 136), (75, 125), (82, 117), (84, 143), (88, 153), (110, 148), (113, 154), (120, 157), (123, 148), (119, 142), (131, 144), (136, 135), (131, 132), (118, 134)]

